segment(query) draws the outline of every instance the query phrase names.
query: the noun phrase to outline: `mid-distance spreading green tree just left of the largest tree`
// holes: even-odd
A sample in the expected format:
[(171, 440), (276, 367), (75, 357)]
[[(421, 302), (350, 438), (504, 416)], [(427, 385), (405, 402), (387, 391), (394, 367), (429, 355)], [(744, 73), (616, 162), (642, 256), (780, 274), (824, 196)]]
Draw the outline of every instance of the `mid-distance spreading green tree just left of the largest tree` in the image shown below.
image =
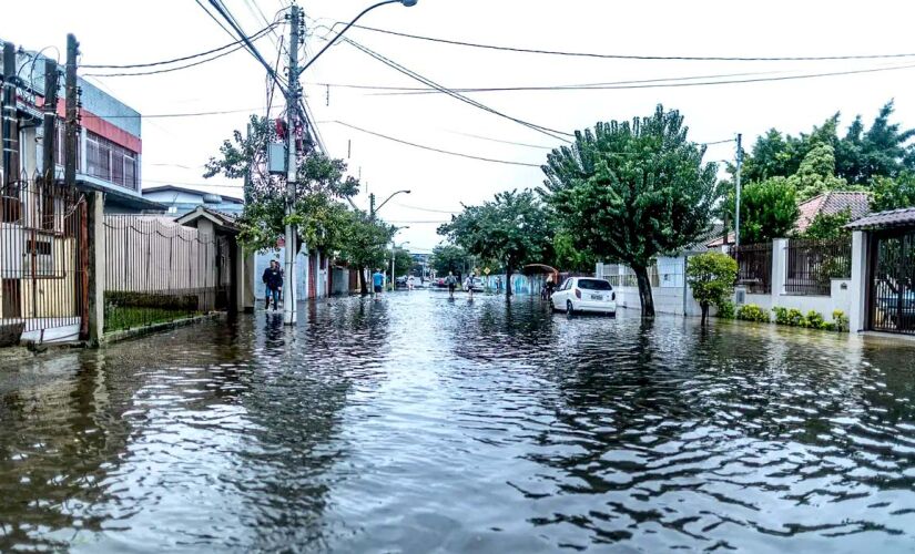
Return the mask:
[(529, 189), (497, 193), (490, 202), (467, 206), (438, 233), (472, 255), (501, 260), (506, 283), (523, 264), (542, 261), (553, 235), (546, 209)]

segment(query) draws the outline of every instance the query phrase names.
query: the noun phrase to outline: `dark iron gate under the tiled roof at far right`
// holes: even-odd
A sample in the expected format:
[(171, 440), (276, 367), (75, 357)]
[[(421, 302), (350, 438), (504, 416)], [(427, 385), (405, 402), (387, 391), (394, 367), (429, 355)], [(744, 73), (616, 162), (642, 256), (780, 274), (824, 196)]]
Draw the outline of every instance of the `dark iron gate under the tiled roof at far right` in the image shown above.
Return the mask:
[(915, 334), (915, 230), (874, 237), (871, 329)]

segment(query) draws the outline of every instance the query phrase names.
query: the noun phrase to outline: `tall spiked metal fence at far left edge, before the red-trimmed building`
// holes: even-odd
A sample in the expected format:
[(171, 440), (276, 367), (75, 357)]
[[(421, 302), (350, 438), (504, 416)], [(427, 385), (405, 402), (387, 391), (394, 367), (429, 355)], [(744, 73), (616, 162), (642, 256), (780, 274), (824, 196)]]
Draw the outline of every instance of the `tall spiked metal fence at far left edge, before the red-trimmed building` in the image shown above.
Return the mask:
[(37, 177), (0, 187), (0, 342), (85, 335), (85, 223), (84, 198), (60, 183)]

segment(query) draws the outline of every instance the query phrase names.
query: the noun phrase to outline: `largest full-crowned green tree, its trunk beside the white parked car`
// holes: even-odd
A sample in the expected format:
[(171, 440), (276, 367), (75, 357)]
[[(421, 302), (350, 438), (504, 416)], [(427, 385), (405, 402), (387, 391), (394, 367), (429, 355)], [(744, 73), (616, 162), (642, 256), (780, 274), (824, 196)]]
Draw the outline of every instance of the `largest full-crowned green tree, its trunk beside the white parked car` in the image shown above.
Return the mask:
[(636, 273), (642, 315), (654, 316), (648, 267), (711, 226), (720, 197), (714, 163), (687, 138), (678, 111), (598, 123), (548, 156), (545, 198), (576, 248)]

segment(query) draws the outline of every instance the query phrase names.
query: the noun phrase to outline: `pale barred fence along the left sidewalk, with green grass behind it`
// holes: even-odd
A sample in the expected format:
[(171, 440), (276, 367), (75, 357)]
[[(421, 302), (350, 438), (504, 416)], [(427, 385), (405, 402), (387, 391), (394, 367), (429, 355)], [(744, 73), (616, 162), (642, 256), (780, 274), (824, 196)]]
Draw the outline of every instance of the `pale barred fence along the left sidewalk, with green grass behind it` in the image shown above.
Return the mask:
[(104, 330), (172, 321), (224, 309), (228, 239), (154, 216), (108, 215)]

